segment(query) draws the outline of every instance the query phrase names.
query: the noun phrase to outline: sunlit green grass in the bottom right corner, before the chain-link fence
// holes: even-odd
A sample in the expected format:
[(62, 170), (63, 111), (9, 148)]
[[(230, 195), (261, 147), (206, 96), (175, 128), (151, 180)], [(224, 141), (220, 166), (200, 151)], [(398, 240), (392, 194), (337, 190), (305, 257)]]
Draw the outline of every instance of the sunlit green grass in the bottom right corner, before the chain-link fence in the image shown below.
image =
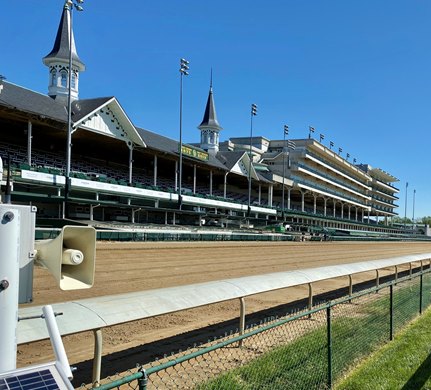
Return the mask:
[(431, 389), (431, 311), (407, 326), (336, 388)]

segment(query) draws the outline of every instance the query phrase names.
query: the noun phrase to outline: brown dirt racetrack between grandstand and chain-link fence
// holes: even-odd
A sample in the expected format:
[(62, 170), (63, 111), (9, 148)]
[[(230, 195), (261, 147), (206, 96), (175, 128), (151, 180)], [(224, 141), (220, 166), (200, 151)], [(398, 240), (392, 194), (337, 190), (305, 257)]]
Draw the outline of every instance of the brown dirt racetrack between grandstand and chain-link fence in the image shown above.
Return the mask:
[[(46, 270), (35, 268), (32, 305), (429, 252), (431, 243), (425, 242), (99, 242), (92, 289), (61, 291)], [(373, 277), (361, 274), (354, 277), (354, 282)], [(346, 285), (344, 278), (324, 281), (314, 286), (314, 292)], [(298, 286), (247, 298), (247, 314), (302, 299), (307, 293), (306, 286)], [(216, 329), (214, 324), (236, 321), (238, 315), (237, 301), (223, 302), (106, 328), (102, 377), (163, 356), (179, 346), (184, 348), (193, 343), (192, 339), (207, 338), (208, 332)], [(230, 326), (237, 325), (233, 322)], [(201, 333), (193, 333), (196, 329), (202, 329)], [(92, 333), (66, 336), (64, 343), (70, 363), (81, 370), (80, 380), (91, 381)], [(49, 341), (18, 348), (19, 366), (49, 359)]]

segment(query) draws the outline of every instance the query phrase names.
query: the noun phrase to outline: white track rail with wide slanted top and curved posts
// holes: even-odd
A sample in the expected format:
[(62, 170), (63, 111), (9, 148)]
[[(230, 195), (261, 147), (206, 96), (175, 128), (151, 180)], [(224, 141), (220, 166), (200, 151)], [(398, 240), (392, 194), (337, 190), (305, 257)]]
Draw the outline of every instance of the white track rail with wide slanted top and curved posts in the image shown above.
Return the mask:
[[(319, 268), (271, 273), (225, 279), (214, 282), (140, 291), (127, 294), (81, 299), (52, 304), (56, 312), (60, 333), (64, 335), (93, 331), (95, 335), (95, 356), (93, 363), (93, 382), (100, 380), (102, 333), (101, 329), (130, 321), (155, 317), (163, 314), (192, 309), (232, 299), (240, 300), (240, 333), (245, 325), (245, 298), (299, 285), (309, 286), (309, 306), (313, 303), (315, 282), (348, 277), (349, 293), (352, 293), (352, 275), (362, 272), (376, 272), (376, 284), (379, 284), (380, 270), (393, 268), (395, 278), (401, 265), (425, 262), (431, 265), (431, 252), (380, 260), (363, 261), (351, 264), (333, 265)], [(40, 316), (42, 306), (31, 306), (19, 310), (19, 318)], [(18, 322), (18, 344), (30, 343), (49, 337), (44, 321), (27, 319)]]

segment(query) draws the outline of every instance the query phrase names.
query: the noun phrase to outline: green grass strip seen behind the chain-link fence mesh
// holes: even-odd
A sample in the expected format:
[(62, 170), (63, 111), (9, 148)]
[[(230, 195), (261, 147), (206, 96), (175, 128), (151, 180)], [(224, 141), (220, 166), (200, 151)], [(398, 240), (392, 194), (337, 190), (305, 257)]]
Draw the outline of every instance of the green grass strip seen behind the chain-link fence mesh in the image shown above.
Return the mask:
[[(430, 277), (424, 278), (424, 291), (430, 295)], [(387, 291), (387, 290), (386, 290)], [(412, 285), (398, 285), (394, 287), (394, 331), (399, 330), (407, 322), (411, 321), (419, 311), (419, 279)], [(424, 302), (428, 304), (429, 302)], [(342, 305), (343, 306), (343, 305)], [(366, 301), (360, 304), (344, 306), (346, 310), (340, 316), (334, 312), (332, 319), (332, 377), (337, 380), (352, 366), (357, 365), (364, 357), (372, 354), (383, 344), (389, 341), (389, 296), (388, 294), (371, 294)], [(428, 318), (429, 317), (429, 318)], [(431, 329), (431, 314), (427, 316), (428, 323), (423, 329)], [(410, 332), (411, 327), (409, 327)], [(406, 332), (403, 332), (405, 334)], [(426, 331), (422, 331), (423, 336)], [(415, 373), (423, 361), (427, 361), (431, 351), (431, 331), (429, 340), (423, 341), (424, 352), (410, 362), (403, 362), (400, 366), (405, 369), (410, 365), (413, 371), (408, 371), (407, 378), (403, 376), (404, 382), (394, 382), (388, 379), (382, 381), (382, 387), (376, 387), (376, 379), (381, 375), (382, 369), (373, 373), (358, 374), (355, 378), (360, 379), (359, 384), (346, 382), (340, 389), (401, 389), (403, 385)], [(419, 336), (413, 336), (413, 339)], [(409, 342), (410, 343), (410, 342)], [(392, 344), (390, 344), (392, 345)], [(417, 346), (412, 351), (419, 350)], [(391, 355), (391, 354), (390, 354)], [(387, 357), (387, 361), (392, 359)], [(408, 355), (410, 356), (410, 355)], [(373, 368), (374, 363), (370, 368)], [(427, 371), (431, 373), (431, 356)], [(388, 368), (388, 376), (392, 377), (393, 371), (403, 370)], [(357, 380), (355, 379), (355, 380)], [(229, 390), (252, 390), (252, 389), (326, 389), (328, 382), (327, 366), (327, 329), (321, 324), (314, 330), (297, 338), (288, 345), (280, 346), (267, 352), (245, 364), (233, 369), (208, 382), (199, 385), (198, 389), (229, 389)], [(388, 386), (384, 387), (389, 383)], [(399, 384), (401, 386), (399, 386)], [(413, 383), (413, 382), (412, 382)], [(415, 382), (416, 383), (416, 382)], [(368, 386), (368, 387), (367, 387)], [(419, 389), (420, 387), (406, 387), (406, 389)], [(431, 387), (429, 387), (431, 389)]]

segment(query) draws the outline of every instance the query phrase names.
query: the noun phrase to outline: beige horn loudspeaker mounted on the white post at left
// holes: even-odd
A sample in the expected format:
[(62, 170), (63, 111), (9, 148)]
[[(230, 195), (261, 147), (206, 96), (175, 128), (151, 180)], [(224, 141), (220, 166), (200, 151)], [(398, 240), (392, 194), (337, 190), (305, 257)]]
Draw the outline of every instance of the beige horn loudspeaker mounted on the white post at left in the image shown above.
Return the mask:
[(96, 230), (91, 226), (64, 226), (57, 238), (35, 242), (36, 264), (54, 276), (62, 290), (94, 284)]

